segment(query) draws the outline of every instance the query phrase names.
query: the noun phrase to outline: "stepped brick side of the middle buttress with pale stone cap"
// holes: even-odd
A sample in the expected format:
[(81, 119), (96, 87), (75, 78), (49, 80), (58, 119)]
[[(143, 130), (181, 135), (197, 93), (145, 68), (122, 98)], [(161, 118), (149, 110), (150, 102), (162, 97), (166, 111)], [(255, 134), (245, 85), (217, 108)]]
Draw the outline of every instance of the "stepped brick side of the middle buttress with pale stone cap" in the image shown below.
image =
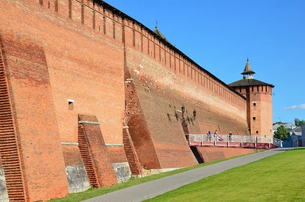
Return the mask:
[(81, 159), (84, 163), (89, 183), (91, 186), (100, 187), (97, 174), (93, 166), (93, 160), (90, 156), (84, 128), (80, 124), (78, 125), (78, 143), (79, 143), (78, 148), (80, 151)]

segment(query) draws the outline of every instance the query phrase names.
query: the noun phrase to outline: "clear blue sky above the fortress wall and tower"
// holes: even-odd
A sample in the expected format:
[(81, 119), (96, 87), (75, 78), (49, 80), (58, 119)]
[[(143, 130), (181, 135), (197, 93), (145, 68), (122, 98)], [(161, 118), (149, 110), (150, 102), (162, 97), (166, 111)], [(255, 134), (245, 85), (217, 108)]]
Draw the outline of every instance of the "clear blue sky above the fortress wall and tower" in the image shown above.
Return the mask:
[[(275, 85), (273, 122), (305, 119), (305, 1), (106, 0), (226, 83), (242, 78), (247, 56), (255, 79)], [(304, 79), (304, 80), (303, 80)]]

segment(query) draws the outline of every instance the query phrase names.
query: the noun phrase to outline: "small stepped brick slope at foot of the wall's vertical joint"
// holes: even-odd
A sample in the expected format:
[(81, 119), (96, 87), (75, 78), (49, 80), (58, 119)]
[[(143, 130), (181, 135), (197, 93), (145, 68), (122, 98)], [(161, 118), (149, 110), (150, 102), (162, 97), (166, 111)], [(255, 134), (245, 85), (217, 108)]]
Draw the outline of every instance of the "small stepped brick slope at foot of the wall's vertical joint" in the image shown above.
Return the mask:
[(131, 174), (141, 175), (142, 169), (140, 166), (140, 161), (134, 149), (127, 127), (123, 128), (123, 144), (124, 144), (124, 151), (127, 157), (127, 161), (131, 170)]

